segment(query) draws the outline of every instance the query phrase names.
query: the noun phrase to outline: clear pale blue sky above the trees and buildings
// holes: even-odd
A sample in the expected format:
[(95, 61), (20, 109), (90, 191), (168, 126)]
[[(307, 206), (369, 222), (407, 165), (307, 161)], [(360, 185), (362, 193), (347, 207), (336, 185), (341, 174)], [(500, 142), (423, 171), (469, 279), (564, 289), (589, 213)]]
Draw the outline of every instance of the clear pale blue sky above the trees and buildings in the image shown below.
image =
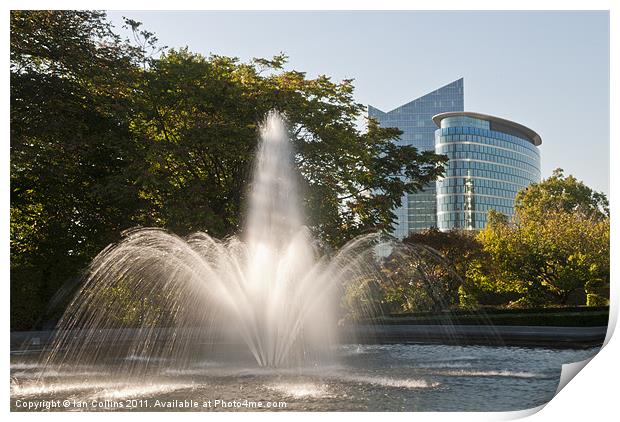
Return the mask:
[(457, 78), (465, 110), (515, 120), (556, 167), (609, 193), (609, 15), (602, 11), (110, 11), (169, 47), (242, 60), (284, 52), (309, 77), (354, 78), (389, 111)]

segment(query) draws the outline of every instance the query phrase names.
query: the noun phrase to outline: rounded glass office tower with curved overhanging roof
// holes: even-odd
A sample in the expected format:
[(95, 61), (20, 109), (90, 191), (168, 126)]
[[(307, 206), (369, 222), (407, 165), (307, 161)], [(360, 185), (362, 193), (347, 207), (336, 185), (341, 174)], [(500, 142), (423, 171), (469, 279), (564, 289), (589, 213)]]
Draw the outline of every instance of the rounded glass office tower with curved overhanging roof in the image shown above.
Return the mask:
[(540, 136), (480, 113), (441, 113), (433, 121), (435, 152), (449, 158), (436, 183), (437, 227), (480, 230), (490, 209), (512, 217), (517, 192), (540, 181)]

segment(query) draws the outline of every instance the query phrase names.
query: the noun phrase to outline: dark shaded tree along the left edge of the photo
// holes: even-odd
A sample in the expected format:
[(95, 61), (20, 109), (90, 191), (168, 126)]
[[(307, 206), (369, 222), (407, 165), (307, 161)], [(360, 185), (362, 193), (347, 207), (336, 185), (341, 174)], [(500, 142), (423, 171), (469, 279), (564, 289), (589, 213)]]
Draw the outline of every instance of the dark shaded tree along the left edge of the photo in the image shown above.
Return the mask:
[(50, 297), (135, 225), (141, 146), (129, 119), (140, 52), (94, 11), (11, 12), (11, 313)]

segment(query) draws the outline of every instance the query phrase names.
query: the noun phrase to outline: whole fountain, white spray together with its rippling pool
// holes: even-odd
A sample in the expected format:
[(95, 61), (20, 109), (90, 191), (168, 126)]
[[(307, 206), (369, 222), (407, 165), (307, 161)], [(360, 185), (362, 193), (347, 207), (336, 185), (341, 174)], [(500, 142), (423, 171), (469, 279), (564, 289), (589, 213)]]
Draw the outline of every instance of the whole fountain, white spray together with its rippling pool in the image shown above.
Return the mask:
[[(545, 403), (561, 363), (592, 354), (416, 344), (411, 327), (400, 344), (367, 344), (376, 325), (351, 318), (381, 315), (390, 294), (445, 311), (456, 276), (432, 249), (379, 233), (323, 253), (292, 160), (271, 112), (239, 236), (132, 229), (103, 250), (45, 350), (12, 352), (12, 409), (514, 410)], [(441, 330), (454, 334), (425, 338)]]

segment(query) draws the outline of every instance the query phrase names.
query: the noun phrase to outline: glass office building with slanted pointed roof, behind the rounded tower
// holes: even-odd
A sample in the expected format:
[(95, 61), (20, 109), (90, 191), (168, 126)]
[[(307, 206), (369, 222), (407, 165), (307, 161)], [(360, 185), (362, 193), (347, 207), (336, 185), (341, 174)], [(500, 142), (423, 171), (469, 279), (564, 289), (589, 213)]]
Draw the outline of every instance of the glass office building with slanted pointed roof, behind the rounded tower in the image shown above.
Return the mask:
[[(368, 106), (368, 116), (382, 127), (397, 127), (403, 134), (398, 143), (413, 145), (420, 151), (435, 149), (433, 116), (447, 111), (463, 111), (463, 79), (458, 79), (433, 92), (389, 112)], [(435, 183), (423, 191), (405, 194), (395, 210), (397, 224), (393, 235), (402, 239), (409, 233), (437, 227)]]

